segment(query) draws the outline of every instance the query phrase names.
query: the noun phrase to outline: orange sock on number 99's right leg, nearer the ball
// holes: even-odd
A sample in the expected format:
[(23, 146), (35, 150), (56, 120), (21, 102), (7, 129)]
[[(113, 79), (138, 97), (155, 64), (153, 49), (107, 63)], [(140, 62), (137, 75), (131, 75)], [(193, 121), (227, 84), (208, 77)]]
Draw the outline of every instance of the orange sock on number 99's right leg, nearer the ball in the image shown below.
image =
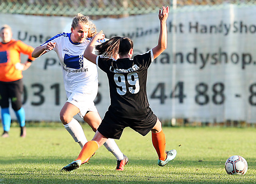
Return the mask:
[(165, 135), (163, 130), (158, 133), (152, 132), (152, 143), (154, 148), (156, 149), (158, 159), (164, 161), (167, 155), (165, 152)]

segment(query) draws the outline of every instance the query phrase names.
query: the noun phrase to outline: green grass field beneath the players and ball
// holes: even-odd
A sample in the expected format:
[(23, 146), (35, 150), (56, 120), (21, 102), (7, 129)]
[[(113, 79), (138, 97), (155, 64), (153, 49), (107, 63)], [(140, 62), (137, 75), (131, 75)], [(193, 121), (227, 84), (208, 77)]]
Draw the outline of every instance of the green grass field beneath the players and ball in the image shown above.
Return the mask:
[[(0, 127), (2, 129), (2, 127)], [(87, 139), (94, 135), (83, 125)], [(126, 128), (117, 144), (130, 163), (115, 170), (115, 157), (100, 147), (89, 163), (72, 172), (60, 169), (78, 156), (74, 143), (61, 123), (28, 125), (27, 137), (13, 126), (10, 137), (0, 137), (0, 184), (153, 184), (153, 183), (256, 183), (256, 129), (227, 127), (164, 127), (166, 149), (176, 149), (176, 159), (157, 165), (151, 133), (142, 137)], [(228, 175), (224, 163), (232, 155), (248, 162), (244, 175)]]

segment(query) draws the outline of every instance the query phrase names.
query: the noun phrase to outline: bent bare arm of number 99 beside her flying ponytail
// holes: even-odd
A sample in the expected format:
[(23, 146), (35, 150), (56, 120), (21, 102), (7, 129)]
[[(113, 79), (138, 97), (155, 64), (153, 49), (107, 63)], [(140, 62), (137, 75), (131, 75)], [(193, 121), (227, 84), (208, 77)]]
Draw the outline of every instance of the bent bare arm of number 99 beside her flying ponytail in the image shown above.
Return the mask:
[(84, 51), (84, 57), (94, 64), (96, 64), (97, 58), (97, 55), (92, 53), (94, 45), (98, 39), (104, 39), (104, 37), (105, 35), (103, 33), (97, 33), (96, 35), (94, 35)]

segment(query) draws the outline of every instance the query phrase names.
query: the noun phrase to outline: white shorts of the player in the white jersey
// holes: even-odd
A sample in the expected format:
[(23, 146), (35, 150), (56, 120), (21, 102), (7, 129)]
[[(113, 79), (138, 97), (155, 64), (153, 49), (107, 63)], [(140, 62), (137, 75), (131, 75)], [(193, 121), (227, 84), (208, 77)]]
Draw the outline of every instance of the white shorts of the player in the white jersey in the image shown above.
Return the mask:
[(96, 98), (98, 93), (98, 90), (76, 90), (74, 92), (67, 92), (67, 98), (68, 100), (66, 102), (69, 102), (70, 104), (73, 104), (76, 106), (80, 112), (78, 115), (80, 115), (81, 118), (84, 118), (84, 115), (88, 111), (92, 112), (98, 112), (93, 100)]

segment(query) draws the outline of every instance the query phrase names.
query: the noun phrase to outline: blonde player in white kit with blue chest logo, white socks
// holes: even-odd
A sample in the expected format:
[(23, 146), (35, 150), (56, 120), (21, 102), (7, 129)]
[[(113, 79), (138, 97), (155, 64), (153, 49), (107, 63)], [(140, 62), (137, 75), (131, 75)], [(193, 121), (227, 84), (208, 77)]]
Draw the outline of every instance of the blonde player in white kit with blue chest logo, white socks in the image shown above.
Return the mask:
[[(90, 38), (95, 34), (96, 27), (92, 21), (87, 16), (77, 14), (72, 21), (71, 33), (52, 37), (32, 53), (35, 58), (51, 50), (57, 53), (68, 98), (60, 111), (60, 120), (81, 149), (87, 139), (74, 115), (79, 114), (94, 132), (102, 121), (93, 102), (98, 93), (98, 70), (96, 65), (83, 57)], [(104, 146), (116, 157), (116, 170), (124, 170), (128, 158), (120, 151), (114, 139), (108, 139)]]

